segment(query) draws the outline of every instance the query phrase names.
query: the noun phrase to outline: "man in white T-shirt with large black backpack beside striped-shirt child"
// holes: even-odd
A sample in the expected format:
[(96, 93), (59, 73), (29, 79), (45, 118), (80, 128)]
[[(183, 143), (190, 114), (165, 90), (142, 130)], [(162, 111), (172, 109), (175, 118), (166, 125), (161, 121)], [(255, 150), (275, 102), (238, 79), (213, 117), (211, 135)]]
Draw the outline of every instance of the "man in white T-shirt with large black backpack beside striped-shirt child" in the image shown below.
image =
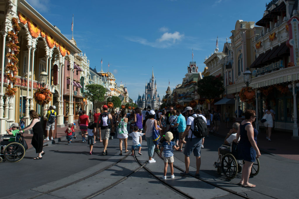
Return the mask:
[(200, 149), (202, 145), (202, 137), (208, 135), (207, 120), (203, 115), (197, 115), (191, 107), (186, 107), (184, 112), (187, 115), (186, 129), (180, 138), (181, 144), (183, 138), (188, 135), (186, 145), (184, 148), (185, 167), (186, 171), (180, 173), (182, 176), (189, 177), (190, 155), (193, 152), (196, 158), (196, 173), (195, 176), (199, 177), (200, 168)]

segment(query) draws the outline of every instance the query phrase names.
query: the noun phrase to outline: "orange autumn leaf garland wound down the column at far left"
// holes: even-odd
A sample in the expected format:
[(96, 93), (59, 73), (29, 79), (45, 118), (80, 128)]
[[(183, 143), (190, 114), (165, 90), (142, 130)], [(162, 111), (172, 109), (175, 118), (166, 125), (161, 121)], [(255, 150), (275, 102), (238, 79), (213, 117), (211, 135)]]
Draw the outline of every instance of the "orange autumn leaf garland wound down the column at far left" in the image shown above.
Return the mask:
[[(8, 37), (7, 46), (10, 48), (10, 52), (7, 53), (5, 56), (7, 57), (8, 60), (10, 60), (10, 62), (6, 64), (5, 72), (7, 72), (6, 75), (7, 80), (12, 82), (12, 84), (14, 85), (16, 83), (16, 78), (14, 76), (18, 74), (18, 69), (19, 69), (17, 66), (19, 60), (16, 57), (16, 55), (18, 55), (20, 52), (20, 47), (17, 44), (19, 43), (18, 33), (21, 30), (21, 28), (18, 24), (19, 22), (18, 18), (13, 17), (11, 19), (11, 22), (13, 24), (13, 29), (15, 33), (12, 30), (7, 33), (7, 37)], [(10, 71), (13, 72), (13, 75), (10, 74)], [(16, 92), (17, 92), (17, 88), (11, 88), (9, 84), (7, 85), (5, 89), (5, 95), (14, 96)]]

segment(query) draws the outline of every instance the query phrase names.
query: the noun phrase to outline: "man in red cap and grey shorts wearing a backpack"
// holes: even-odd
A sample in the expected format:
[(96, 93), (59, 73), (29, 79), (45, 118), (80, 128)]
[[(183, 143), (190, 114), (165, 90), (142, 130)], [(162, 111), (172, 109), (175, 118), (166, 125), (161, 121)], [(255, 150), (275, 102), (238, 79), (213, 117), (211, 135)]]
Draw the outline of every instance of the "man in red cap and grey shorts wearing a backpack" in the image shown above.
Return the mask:
[(97, 119), (97, 126), (96, 129), (98, 129), (99, 124), (101, 128), (101, 134), (104, 135), (103, 138), (103, 145), (104, 145), (104, 151), (103, 155), (107, 155), (107, 146), (108, 146), (108, 140), (110, 135), (114, 133), (114, 127), (113, 127), (113, 119), (112, 115), (108, 112), (107, 105), (103, 105), (103, 113), (100, 114), (99, 118)]

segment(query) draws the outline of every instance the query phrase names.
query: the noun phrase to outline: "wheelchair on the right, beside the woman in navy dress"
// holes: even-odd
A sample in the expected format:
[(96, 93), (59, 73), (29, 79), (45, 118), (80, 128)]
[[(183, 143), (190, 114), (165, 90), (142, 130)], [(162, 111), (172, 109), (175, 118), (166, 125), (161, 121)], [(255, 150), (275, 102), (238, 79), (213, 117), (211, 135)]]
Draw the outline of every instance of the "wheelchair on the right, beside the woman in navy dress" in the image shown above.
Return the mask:
[[(218, 157), (218, 161), (214, 163), (215, 168), (217, 168), (217, 173), (224, 176), (228, 179), (234, 179), (237, 176), (237, 173), (242, 171), (242, 165), (245, 163), (244, 160), (240, 160), (238, 155), (238, 144), (233, 142), (232, 146), (222, 145), (224, 149), (227, 149), (231, 152), (222, 155), (220, 154)], [(220, 161), (221, 160), (221, 161)], [(250, 176), (256, 176), (260, 171), (260, 160), (255, 158), (255, 162), (251, 167)]]

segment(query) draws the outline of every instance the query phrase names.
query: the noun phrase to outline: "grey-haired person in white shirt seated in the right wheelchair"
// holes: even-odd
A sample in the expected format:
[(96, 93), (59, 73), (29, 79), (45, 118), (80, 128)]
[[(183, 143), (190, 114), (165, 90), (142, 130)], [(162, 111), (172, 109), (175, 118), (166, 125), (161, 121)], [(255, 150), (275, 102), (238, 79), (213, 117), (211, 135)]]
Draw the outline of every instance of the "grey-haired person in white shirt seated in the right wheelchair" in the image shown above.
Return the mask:
[[(238, 123), (238, 122), (235, 122), (233, 124), (232, 129), (229, 130), (228, 134), (226, 135), (226, 137), (224, 139), (224, 146), (222, 145), (218, 148), (218, 156), (220, 154), (225, 155), (227, 153), (231, 153), (231, 147), (225, 147), (225, 146), (231, 146), (233, 140), (236, 139), (239, 126), (240, 126), (240, 123)], [(221, 162), (221, 156), (219, 158), (220, 158), (220, 162)]]

